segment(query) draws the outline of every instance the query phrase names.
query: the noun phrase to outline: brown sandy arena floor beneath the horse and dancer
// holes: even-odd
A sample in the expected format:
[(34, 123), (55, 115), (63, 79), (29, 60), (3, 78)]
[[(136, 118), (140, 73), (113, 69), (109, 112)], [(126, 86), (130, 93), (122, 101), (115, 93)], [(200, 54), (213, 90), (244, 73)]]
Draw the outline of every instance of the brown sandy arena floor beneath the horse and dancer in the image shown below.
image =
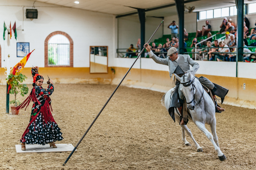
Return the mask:
[[(58, 143), (75, 146), (115, 87), (56, 84), (51, 96), (53, 117), (64, 137)], [(5, 93), (6, 86), (0, 86), (0, 170), (256, 169), (256, 110), (224, 105), (226, 111), (216, 114), (220, 148), (227, 157), (221, 162), (212, 143), (193, 123), (188, 127), (203, 152), (197, 152), (188, 135), (192, 146), (184, 145), (180, 126), (161, 105), (164, 93), (120, 87), (78, 151), (62, 166), (70, 152), (16, 153), (15, 144), (20, 144), (31, 109), (21, 110), (18, 116), (5, 114)]]

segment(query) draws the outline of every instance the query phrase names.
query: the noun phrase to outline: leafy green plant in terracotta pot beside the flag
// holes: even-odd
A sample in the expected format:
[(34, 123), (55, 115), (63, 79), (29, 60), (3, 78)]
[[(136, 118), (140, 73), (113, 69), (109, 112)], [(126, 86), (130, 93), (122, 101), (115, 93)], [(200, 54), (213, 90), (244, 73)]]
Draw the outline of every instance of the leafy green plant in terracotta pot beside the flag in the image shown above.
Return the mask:
[(6, 80), (8, 80), (7, 82), (12, 87), (9, 90), (9, 93), (14, 94), (14, 96), (15, 96), (15, 99), (10, 101), (10, 103), (14, 105), (14, 106), (11, 106), (13, 115), (19, 114), (19, 110), (16, 110), (16, 107), (18, 105), (20, 105), (20, 101), (17, 100), (17, 98), (16, 98), (17, 94), (20, 92), (20, 95), (24, 97), (24, 95), (28, 93), (27, 85), (21, 84), (25, 79), (27, 79), (27, 77), (23, 74), (17, 74), (17, 75), (10, 74), (10, 75), (8, 75), (8, 78), (6, 78)]

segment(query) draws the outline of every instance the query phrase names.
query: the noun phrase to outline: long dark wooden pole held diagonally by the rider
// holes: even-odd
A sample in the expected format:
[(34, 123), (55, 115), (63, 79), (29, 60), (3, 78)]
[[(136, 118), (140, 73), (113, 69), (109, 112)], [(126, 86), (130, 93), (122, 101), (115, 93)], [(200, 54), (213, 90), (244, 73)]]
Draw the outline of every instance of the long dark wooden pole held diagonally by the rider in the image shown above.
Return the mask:
[[(156, 31), (158, 30), (158, 28), (161, 26), (161, 24), (164, 22), (164, 20), (160, 23), (160, 25), (157, 27)], [(156, 33), (156, 31), (154, 32), (154, 34)], [(148, 42), (151, 40), (151, 38), (154, 36), (154, 34), (150, 37), (150, 39), (148, 40)], [(147, 42), (147, 43), (148, 43)], [(144, 44), (141, 44), (144, 45)], [(139, 55), (137, 56), (136, 60), (134, 61), (134, 63), (132, 64), (132, 66), (135, 64), (135, 62), (138, 60), (138, 58), (140, 57), (141, 53), (144, 51), (146, 46), (144, 46), (144, 48), (140, 51)], [(104, 108), (106, 107), (106, 105), (108, 104), (108, 102), (110, 101), (110, 99), (112, 98), (112, 96), (114, 95), (114, 93), (116, 92), (116, 90), (118, 89), (118, 87), (121, 85), (121, 83), (123, 82), (124, 78), (127, 76), (127, 74), (129, 73), (129, 71), (131, 70), (132, 66), (129, 68), (129, 70), (126, 72), (126, 74), (124, 75), (123, 79), (120, 81), (120, 83), (117, 85), (116, 89), (114, 90), (114, 92), (111, 94), (111, 96), (109, 97), (108, 101), (105, 103), (105, 105), (102, 107), (102, 109), (100, 110), (100, 112), (98, 113), (98, 115), (95, 117), (95, 119), (93, 120), (93, 122), (91, 123), (91, 125), (89, 126), (89, 128), (86, 130), (86, 132), (84, 133), (84, 135), (82, 136), (82, 138), (79, 140), (79, 142), (77, 143), (76, 147), (74, 147), (74, 149), (72, 150), (72, 152), (70, 153), (70, 155), (68, 156), (67, 160), (64, 162), (63, 166), (66, 165), (66, 163), (68, 162), (69, 158), (73, 155), (74, 151), (76, 150), (76, 148), (78, 147), (78, 145), (81, 143), (81, 141), (83, 140), (83, 138), (85, 137), (85, 135), (88, 133), (88, 131), (90, 130), (90, 128), (92, 127), (92, 125), (94, 124), (94, 122), (97, 120), (97, 118), (100, 116), (101, 112), (104, 110)]]

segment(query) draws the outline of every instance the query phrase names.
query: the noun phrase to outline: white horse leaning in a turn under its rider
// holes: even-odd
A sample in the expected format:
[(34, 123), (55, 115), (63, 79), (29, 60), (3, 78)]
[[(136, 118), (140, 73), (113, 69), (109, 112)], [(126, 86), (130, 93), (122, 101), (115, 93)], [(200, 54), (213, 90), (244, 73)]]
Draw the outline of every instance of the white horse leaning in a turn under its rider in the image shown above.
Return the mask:
[[(187, 106), (192, 117), (191, 118), (188, 116), (189, 121), (194, 122), (194, 124), (207, 136), (217, 151), (219, 159), (221, 161), (225, 161), (226, 156), (221, 152), (219, 148), (218, 136), (216, 134), (215, 106), (211, 97), (206, 92), (204, 92), (204, 89), (199, 80), (197, 80), (195, 76), (193, 76), (190, 72), (185, 73), (182, 77), (179, 77), (175, 74), (175, 77), (181, 82), (180, 90), (187, 100)], [(162, 104), (164, 100), (164, 106), (167, 111), (169, 110), (171, 96), (174, 88), (170, 89), (161, 100)], [(178, 110), (175, 109), (175, 120), (180, 120), (177, 111)], [(205, 124), (210, 125), (212, 134), (205, 128)], [(202, 147), (196, 142), (187, 125), (181, 125), (181, 129), (182, 141), (185, 142), (185, 145), (190, 146), (190, 143), (186, 140), (185, 137), (186, 131), (189, 137), (195, 143), (197, 151), (202, 152)]]

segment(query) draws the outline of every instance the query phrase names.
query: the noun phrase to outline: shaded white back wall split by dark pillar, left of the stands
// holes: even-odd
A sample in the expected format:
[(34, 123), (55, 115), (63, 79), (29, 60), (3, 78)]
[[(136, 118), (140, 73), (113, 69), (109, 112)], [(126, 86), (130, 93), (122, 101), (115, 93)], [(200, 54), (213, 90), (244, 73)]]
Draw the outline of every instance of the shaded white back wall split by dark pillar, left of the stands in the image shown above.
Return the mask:
[[(118, 18), (118, 48), (129, 48), (130, 44), (136, 47), (138, 38), (140, 38), (139, 16), (127, 16)], [(161, 18), (146, 17), (145, 22), (145, 42), (147, 42), (158, 25)], [(163, 26), (160, 26), (150, 42), (163, 36)]]

